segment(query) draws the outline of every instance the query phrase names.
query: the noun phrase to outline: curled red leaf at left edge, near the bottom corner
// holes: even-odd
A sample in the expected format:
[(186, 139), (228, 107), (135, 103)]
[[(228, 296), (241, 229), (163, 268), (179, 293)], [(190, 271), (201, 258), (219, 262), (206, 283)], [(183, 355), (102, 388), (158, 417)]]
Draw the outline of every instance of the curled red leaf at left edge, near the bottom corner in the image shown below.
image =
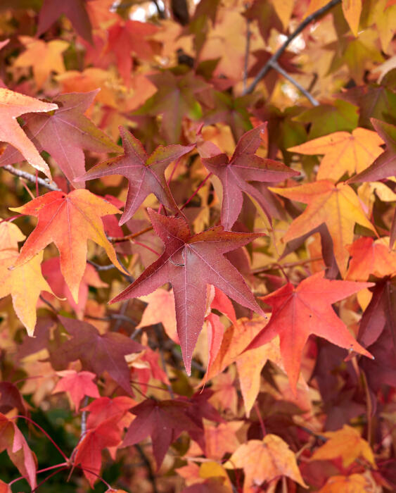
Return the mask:
[(14, 420), (0, 413), (0, 452), (4, 450), (30, 487), (34, 489), (37, 486), (37, 467), (32, 451)]

